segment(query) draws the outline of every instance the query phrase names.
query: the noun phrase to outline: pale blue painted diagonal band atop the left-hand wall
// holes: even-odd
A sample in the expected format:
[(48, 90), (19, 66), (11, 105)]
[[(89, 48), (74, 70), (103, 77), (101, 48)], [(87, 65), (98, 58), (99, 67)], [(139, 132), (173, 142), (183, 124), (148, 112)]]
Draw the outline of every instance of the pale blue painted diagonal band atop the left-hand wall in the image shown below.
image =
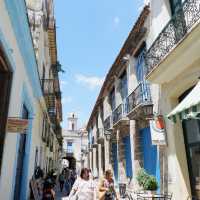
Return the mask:
[[(37, 61), (33, 48), (31, 32), (27, 17), (27, 9), (24, 0), (4, 0), (16, 40), (24, 61), (25, 69), (33, 88), (34, 96), (40, 98), (42, 89), (40, 86)], [(17, 68), (17, 66), (16, 66)]]

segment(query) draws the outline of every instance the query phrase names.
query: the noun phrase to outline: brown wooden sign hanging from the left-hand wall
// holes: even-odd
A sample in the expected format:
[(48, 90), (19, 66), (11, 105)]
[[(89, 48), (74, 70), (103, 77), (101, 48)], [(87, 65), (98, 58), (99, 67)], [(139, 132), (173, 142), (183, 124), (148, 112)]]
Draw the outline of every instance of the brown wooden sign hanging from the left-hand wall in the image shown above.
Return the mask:
[(28, 128), (28, 119), (8, 118), (7, 132), (9, 133), (25, 133)]

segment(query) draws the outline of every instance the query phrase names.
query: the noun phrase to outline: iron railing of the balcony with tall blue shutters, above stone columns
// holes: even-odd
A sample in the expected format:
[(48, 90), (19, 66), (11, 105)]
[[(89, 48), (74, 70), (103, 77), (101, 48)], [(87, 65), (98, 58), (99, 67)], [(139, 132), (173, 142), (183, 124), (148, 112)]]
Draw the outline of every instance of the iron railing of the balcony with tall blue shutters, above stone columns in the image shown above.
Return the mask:
[(127, 111), (131, 112), (138, 105), (152, 103), (149, 84), (141, 82), (127, 98)]

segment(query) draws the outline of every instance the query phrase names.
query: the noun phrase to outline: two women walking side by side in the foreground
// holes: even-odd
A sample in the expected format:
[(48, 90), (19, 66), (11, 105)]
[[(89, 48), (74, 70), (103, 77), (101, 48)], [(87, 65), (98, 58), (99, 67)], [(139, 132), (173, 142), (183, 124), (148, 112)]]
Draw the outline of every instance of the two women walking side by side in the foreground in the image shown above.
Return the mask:
[(69, 194), (69, 200), (114, 200), (118, 199), (114, 188), (113, 174), (107, 170), (97, 183), (92, 177), (91, 170), (83, 168), (80, 177), (76, 179)]

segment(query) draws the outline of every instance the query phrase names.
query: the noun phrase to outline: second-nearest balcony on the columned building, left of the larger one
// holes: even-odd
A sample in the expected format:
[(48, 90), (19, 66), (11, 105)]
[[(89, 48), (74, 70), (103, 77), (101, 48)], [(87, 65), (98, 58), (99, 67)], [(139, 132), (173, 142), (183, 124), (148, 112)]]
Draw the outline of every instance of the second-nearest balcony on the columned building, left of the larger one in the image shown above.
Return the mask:
[(128, 111), (128, 104), (127, 104), (127, 98), (123, 101), (122, 104), (120, 104), (114, 111), (112, 115), (113, 119), (113, 126), (118, 126), (118, 125), (128, 125), (128, 118), (126, 117), (127, 111)]

